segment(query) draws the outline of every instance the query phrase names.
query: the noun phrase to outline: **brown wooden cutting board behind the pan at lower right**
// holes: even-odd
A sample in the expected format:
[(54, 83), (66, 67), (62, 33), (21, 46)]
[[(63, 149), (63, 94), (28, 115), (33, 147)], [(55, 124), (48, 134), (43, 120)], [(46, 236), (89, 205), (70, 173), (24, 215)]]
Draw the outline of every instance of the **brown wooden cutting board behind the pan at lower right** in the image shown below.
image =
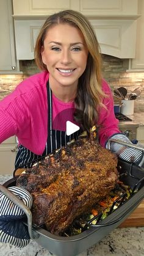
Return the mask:
[(144, 200), (119, 227), (144, 226)]

